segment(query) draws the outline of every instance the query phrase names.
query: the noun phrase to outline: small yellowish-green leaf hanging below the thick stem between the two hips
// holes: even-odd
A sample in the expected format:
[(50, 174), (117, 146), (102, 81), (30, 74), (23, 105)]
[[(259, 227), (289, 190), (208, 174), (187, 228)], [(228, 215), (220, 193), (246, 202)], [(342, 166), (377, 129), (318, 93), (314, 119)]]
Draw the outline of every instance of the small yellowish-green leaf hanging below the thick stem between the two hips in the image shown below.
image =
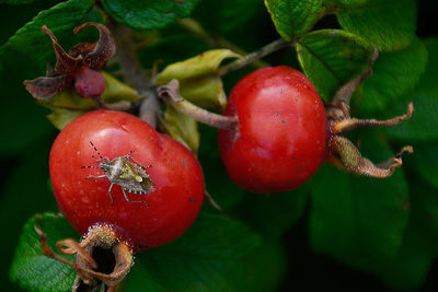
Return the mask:
[(166, 131), (173, 139), (191, 149), (193, 153), (196, 154), (198, 152), (199, 132), (196, 120), (168, 106), (164, 114), (164, 122)]

